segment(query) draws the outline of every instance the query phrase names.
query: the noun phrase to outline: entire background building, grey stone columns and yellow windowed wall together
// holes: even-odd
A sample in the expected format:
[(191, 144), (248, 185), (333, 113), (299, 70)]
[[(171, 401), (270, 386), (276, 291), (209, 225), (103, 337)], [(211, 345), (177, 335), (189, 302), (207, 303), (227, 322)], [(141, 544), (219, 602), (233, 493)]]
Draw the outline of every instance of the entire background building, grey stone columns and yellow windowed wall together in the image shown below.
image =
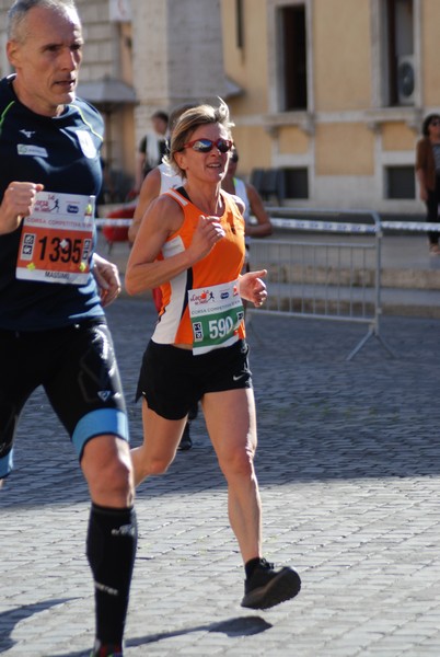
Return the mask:
[(240, 174), (275, 173), (285, 205), (424, 211), (414, 160), (424, 116), (440, 110), (439, 0), (77, 4), (80, 93), (104, 112), (113, 170), (132, 176), (154, 110), (219, 95)]

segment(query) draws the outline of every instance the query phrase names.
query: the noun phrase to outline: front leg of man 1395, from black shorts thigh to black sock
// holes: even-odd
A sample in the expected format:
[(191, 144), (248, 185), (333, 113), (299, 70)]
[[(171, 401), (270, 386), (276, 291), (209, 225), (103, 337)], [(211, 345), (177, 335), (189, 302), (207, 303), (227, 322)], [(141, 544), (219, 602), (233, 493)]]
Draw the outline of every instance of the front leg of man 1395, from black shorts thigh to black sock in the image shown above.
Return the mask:
[[(62, 368), (45, 382), (80, 459), (92, 500), (86, 554), (95, 585), (92, 655), (123, 654), (137, 528), (128, 420), (108, 327), (73, 325), (59, 337)], [(103, 392), (105, 394), (103, 394)]]

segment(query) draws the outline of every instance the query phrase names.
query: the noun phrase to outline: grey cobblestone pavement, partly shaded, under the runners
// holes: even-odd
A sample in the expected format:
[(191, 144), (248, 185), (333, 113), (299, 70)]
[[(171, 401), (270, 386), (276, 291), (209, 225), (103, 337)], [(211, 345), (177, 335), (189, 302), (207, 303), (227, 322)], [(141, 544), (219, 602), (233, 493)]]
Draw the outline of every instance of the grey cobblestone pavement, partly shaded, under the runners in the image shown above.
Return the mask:
[[(151, 301), (108, 309), (132, 442)], [(265, 555), (303, 589), (270, 611), (240, 607), (243, 569), (227, 491), (198, 417), (194, 448), (138, 489), (127, 656), (440, 655), (438, 320), (385, 318), (391, 358), (362, 325), (253, 315), (256, 466)], [(0, 492), (0, 654), (82, 657), (93, 643), (84, 556), (88, 493), (42, 392)]]

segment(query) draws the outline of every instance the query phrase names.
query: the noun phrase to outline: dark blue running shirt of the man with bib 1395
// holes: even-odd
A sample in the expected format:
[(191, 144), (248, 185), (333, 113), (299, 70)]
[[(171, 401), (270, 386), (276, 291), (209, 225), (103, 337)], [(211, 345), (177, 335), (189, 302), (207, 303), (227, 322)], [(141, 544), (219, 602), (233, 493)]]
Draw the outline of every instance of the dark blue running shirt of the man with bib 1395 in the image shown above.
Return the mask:
[[(0, 200), (12, 181), (97, 196), (104, 132), (99, 112), (77, 99), (61, 116), (35, 114), (18, 100), (13, 78), (0, 81)], [(103, 315), (92, 274), (81, 286), (15, 277), (21, 232), (0, 234), (0, 328), (43, 331)]]

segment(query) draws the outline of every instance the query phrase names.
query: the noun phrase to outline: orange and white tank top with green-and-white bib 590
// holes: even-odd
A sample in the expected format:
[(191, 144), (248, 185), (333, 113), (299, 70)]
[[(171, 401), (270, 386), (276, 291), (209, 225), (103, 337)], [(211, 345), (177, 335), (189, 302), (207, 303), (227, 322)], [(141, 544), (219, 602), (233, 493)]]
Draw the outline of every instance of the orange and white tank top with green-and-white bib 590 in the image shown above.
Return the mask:
[[(176, 189), (165, 192), (184, 214), (181, 228), (170, 235), (160, 257), (187, 249), (202, 214)], [(245, 336), (238, 279), (244, 262), (244, 219), (232, 196), (221, 191), (224, 212), (219, 221), (224, 238), (201, 261), (161, 286), (162, 309), (152, 335), (158, 344), (185, 344), (194, 354), (225, 347)]]

